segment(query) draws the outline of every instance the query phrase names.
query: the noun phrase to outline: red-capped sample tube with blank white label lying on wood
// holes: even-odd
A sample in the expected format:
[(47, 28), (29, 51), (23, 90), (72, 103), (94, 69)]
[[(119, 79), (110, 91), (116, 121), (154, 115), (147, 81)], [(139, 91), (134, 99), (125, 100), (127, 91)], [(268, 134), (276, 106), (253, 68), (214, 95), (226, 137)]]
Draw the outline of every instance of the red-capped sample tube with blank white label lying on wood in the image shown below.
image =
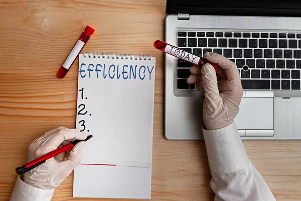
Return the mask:
[(57, 72), (57, 76), (59, 78), (65, 77), (69, 68), (71, 67), (71, 65), (73, 64), (73, 62), (75, 61), (76, 57), (78, 56), (80, 51), (83, 49), (85, 44), (88, 42), (89, 38), (92, 36), (94, 31), (95, 30), (89, 26), (87, 26), (85, 28), (85, 30), (79, 37), (77, 43), (74, 45), (73, 49), (71, 50), (69, 56), (67, 57), (67, 59), (65, 60), (65, 62), (63, 63), (63, 65), (61, 66), (59, 71)]

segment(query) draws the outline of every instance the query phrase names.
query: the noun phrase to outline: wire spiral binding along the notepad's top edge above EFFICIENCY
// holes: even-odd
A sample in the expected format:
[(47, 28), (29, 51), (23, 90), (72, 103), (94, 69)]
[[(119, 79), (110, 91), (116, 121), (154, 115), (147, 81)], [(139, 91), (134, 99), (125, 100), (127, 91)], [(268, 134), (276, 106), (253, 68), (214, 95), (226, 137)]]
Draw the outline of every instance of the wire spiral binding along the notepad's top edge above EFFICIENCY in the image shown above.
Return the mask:
[(84, 57), (89, 58), (111, 58), (111, 59), (134, 59), (134, 60), (152, 60), (152, 56), (137, 55), (137, 54), (115, 54), (115, 53), (101, 53), (101, 52), (84, 52)]

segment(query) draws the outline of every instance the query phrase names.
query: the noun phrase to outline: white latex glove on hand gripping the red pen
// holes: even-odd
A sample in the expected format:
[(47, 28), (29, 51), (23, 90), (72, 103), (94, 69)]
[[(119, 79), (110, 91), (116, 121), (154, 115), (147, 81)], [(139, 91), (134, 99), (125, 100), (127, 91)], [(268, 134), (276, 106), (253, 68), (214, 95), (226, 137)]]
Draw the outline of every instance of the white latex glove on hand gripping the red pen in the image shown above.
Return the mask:
[[(55, 128), (30, 144), (27, 162), (69, 144), (73, 140), (84, 140), (86, 138), (87, 134), (85, 132), (79, 132), (78, 129)], [(44, 164), (24, 173), (23, 181), (34, 187), (54, 189), (60, 185), (79, 164), (85, 147), (85, 142), (79, 142), (71, 150), (67, 151), (68, 155), (66, 158), (63, 159), (63, 153), (46, 160)]]

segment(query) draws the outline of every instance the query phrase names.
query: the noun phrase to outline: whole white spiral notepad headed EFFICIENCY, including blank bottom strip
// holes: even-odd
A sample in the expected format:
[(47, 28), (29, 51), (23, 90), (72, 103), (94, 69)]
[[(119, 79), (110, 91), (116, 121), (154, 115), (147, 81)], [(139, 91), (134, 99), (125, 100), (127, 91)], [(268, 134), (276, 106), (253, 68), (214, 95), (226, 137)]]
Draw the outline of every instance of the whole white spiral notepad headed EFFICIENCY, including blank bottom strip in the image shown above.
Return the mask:
[(150, 198), (156, 58), (79, 55), (76, 128), (88, 135), (74, 197)]

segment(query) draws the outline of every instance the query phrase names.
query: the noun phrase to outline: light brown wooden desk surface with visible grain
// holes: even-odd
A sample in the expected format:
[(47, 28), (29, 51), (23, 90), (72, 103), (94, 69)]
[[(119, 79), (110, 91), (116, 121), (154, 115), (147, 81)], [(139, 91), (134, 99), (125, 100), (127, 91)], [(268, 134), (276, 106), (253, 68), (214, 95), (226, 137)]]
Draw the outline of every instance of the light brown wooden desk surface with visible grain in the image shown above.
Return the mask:
[[(15, 168), (26, 161), (33, 140), (58, 126), (75, 127), (78, 60), (66, 78), (55, 74), (86, 25), (96, 32), (84, 51), (157, 57), (152, 199), (213, 200), (204, 142), (164, 138), (164, 55), (153, 42), (165, 38), (165, 5), (164, 0), (0, 2), (0, 200), (9, 200)], [(244, 145), (277, 200), (301, 200), (300, 141)], [(70, 175), (56, 189), (53, 200), (107, 200), (72, 198), (72, 180)]]

